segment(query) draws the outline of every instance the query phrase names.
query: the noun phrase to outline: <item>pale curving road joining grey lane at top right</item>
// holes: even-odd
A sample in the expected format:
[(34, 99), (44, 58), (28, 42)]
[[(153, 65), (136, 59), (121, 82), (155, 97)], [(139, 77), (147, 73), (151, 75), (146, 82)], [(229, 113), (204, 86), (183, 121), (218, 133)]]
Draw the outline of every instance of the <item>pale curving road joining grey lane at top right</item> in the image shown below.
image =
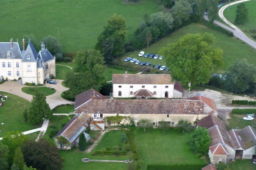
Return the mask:
[[(250, 39), (249, 37), (247, 37), (246, 35), (245, 35), (245, 33), (243, 33), (242, 31), (241, 31), (241, 29), (239, 29), (237, 26), (235, 26), (234, 24), (232, 24), (231, 22), (229, 22), (226, 18), (225, 18), (225, 16), (223, 15), (223, 11), (227, 8), (227, 7), (229, 7), (230, 5), (234, 5), (234, 4), (237, 4), (237, 3), (241, 3), (241, 2), (246, 2), (246, 1), (250, 1), (250, 0), (241, 0), (241, 1), (236, 1), (236, 2), (232, 2), (232, 3), (230, 3), (230, 4), (227, 4), (227, 5), (224, 5), (223, 7), (221, 7), (221, 9), (219, 10), (219, 17), (224, 21), (224, 22), (226, 22), (226, 24), (228, 24), (228, 25), (230, 25), (230, 27), (232, 27), (232, 28), (234, 28), (234, 30), (233, 29), (230, 29), (229, 27), (229, 31), (231, 31), (231, 32), (233, 32), (233, 34), (234, 34), (234, 36), (235, 37), (238, 37), (239, 39), (241, 39), (241, 40), (243, 40), (245, 43), (247, 43), (247, 44), (249, 44), (250, 46), (252, 46), (253, 48), (255, 48), (256, 49), (256, 42), (255, 41), (253, 41), (252, 39)], [(222, 24), (222, 23), (219, 23), (218, 21), (214, 21), (214, 23), (215, 24), (217, 24), (217, 25), (219, 25), (219, 26), (221, 26), (221, 27), (223, 27), (223, 25), (224, 24)], [(226, 25), (224, 25), (225, 27), (223, 27), (223, 28), (225, 28), (225, 29), (227, 29), (226, 27)]]

